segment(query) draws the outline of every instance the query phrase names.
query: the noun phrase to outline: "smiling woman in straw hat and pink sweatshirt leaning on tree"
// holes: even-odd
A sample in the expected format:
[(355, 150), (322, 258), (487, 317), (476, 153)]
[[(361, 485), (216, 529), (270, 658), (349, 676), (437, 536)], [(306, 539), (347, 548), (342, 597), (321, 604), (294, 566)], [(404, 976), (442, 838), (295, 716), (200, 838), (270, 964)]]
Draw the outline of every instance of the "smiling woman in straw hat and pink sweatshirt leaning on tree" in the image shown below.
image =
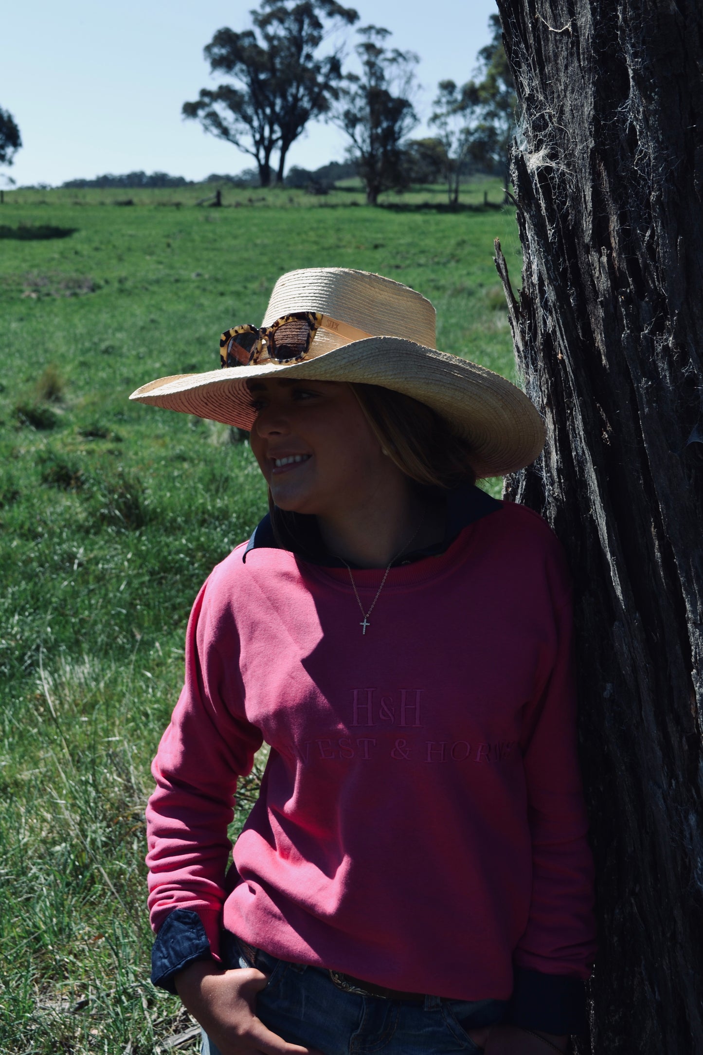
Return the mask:
[(198, 595), (154, 762), (153, 980), (210, 1055), (566, 1051), (593, 956), (568, 573), (474, 485), (542, 421), (366, 272), (284, 275), (220, 351), (133, 396), (250, 428), (271, 511)]

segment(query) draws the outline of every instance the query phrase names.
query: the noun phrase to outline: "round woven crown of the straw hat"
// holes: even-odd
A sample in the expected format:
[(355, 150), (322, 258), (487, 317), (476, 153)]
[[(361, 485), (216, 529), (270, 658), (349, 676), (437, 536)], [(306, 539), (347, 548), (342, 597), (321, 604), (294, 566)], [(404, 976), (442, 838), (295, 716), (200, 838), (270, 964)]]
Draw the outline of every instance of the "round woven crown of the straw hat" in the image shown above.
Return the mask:
[(292, 311), (320, 311), (372, 337), (399, 337), (436, 347), (435, 310), (422, 293), (392, 279), (341, 267), (282, 274), (273, 287), (262, 326)]

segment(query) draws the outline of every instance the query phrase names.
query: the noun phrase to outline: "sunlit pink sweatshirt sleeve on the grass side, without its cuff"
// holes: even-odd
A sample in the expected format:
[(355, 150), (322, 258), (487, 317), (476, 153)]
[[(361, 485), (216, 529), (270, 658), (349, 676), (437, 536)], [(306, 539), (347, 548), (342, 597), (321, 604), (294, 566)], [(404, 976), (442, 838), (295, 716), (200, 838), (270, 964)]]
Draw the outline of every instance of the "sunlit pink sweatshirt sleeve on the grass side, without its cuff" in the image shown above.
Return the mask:
[(211, 576), (191, 613), (183, 689), (152, 765), (147, 865), (153, 929), (176, 909), (176, 920), (195, 913), (216, 959), (237, 778), (262, 743), (241, 696), (234, 619)]

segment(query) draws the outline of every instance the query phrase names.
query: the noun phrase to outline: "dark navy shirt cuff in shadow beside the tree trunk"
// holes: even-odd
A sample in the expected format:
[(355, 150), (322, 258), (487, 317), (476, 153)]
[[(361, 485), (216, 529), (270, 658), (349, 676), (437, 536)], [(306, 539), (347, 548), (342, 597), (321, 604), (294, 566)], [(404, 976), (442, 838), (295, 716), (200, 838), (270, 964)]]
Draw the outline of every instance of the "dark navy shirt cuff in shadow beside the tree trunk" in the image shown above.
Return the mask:
[(544, 975), (515, 966), (505, 1022), (559, 1036), (586, 1033), (585, 982), (572, 975)]

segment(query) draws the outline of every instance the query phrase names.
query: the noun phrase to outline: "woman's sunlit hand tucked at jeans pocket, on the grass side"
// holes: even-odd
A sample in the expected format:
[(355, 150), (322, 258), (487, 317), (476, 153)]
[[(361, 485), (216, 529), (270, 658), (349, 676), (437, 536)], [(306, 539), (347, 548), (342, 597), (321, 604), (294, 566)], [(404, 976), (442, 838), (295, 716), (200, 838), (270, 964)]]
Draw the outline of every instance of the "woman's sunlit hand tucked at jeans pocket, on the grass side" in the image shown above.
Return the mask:
[(287, 1043), (259, 1021), (254, 1003), (268, 979), (255, 967), (221, 971), (212, 960), (197, 960), (174, 981), (185, 1008), (222, 1055), (321, 1055)]

